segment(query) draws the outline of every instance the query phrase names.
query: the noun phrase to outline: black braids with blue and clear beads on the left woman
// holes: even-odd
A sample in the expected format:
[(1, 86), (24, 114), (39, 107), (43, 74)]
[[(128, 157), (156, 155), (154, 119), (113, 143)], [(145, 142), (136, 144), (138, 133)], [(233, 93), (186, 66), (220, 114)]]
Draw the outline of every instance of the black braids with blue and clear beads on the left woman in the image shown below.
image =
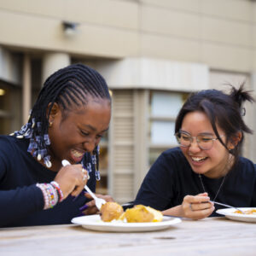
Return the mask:
[[(69, 110), (72, 104), (78, 107), (86, 105), (88, 96), (108, 99), (111, 102), (108, 85), (101, 74), (84, 64), (73, 64), (61, 68), (46, 79), (37, 102), (31, 110), (28, 122), (21, 127), (20, 131), (15, 131), (12, 135), (18, 138), (29, 138), (30, 144), (27, 151), (38, 160), (43, 159), (44, 164), (50, 167), (48, 128), (51, 108), (55, 102), (58, 103), (65, 117), (65, 111)], [(91, 172), (90, 162), (96, 166), (96, 178), (100, 179), (99, 147), (95, 148), (91, 160), (85, 161), (86, 163), (83, 161), (83, 165), (88, 172)]]

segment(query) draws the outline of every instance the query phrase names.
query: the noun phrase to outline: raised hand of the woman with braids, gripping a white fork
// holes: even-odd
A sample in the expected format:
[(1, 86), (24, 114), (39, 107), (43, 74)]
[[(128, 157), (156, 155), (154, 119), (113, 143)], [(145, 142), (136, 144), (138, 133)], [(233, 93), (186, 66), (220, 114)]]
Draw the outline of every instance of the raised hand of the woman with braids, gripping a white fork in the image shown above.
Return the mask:
[(87, 183), (88, 173), (82, 165), (68, 165), (61, 167), (61, 170), (55, 177), (55, 182), (59, 183), (63, 192), (63, 199), (67, 195), (79, 195)]

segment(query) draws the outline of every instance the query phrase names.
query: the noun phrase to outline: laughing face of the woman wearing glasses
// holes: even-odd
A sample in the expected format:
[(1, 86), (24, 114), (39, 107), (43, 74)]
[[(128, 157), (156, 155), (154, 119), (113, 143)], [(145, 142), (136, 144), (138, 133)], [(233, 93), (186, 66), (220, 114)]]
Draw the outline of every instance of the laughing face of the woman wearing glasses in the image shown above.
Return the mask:
[[(183, 118), (180, 130), (188, 132), (192, 137), (207, 133), (216, 138), (207, 115), (199, 111), (187, 113)], [(218, 125), (217, 130), (219, 135), (225, 135)], [(222, 137), (222, 140), (225, 143), (226, 138)], [(232, 147), (230, 143), (227, 146), (228, 148)], [(224, 176), (230, 154), (218, 140), (213, 141), (212, 148), (208, 150), (199, 148), (195, 139), (188, 148), (181, 147), (181, 149), (195, 173), (204, 174), (212, 178)]]

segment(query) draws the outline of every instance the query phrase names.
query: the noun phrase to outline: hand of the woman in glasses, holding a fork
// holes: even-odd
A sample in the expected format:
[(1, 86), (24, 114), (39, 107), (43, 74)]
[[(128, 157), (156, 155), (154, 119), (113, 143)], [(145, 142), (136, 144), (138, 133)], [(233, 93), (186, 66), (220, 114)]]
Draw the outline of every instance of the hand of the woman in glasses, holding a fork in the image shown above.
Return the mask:
[(181, 205), (182, 216), (185, 218), (201, 219), (207, 218), (214, 211), (207, 193), (199, 195), (186, 195)]

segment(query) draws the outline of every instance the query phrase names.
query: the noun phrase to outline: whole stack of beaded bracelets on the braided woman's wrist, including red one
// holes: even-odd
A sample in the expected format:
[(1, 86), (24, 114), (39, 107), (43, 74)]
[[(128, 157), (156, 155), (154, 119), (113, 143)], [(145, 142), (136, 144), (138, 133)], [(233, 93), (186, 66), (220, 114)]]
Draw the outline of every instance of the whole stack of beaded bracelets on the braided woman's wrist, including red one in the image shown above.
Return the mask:
[(44, 195), (44, 210), (54, 207), (63, 200), (61, 187), (55, 181), (51, 183), (37, 183), (37, 187), (42, 190)]

